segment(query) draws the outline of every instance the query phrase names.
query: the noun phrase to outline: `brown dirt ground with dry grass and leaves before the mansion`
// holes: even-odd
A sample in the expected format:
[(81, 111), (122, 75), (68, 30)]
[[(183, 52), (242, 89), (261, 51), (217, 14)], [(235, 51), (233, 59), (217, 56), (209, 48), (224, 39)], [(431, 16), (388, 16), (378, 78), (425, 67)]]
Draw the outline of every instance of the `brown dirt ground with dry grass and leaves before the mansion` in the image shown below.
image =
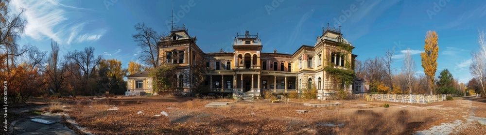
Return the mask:
[[(87, 131), (99, 135), (410, 135), (431, 132), (486, 135), (486, 126), (476, 120), (486, 118), (486, 100), (474, 97), (432, 104), (295, 99), (288, 103), (236, 102), (175, 96), (61, 101), (71, 108), (65, 113)], [(231, 102), (234, 106), (204, 107), (211, 102)], [(336, 102), (342, 105), (320, 108), (303, 105)], [(390, 107), (382, 107), (384, 104)], [(118, 110), (108, 110), (115, 107)], [(299, 114), (297, 110), (307, 112)], [(167, 117), (161, 112), (166, 112)], [(442, 125), (449, 123), (456, 124), (442, 129)], [(435, 128), (441, 129), (436, 131)]]

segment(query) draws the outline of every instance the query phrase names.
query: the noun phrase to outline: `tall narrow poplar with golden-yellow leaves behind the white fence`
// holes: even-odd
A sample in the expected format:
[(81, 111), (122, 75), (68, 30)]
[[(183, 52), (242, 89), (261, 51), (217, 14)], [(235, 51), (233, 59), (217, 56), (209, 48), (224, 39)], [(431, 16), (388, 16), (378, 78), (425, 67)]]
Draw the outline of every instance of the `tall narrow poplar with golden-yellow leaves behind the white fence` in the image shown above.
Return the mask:
[(429, 78), (430, 94), (432, 94), (433, 91), (432, 87), (434, 86), (435, 72), (437, 71), (437, 57), (439, 52), (438, 39), (435, 31), (427, 31), (427, 34), (425, 35), (424, 52), (420, 53), (422, 67), (424, 68), (425, 75)]

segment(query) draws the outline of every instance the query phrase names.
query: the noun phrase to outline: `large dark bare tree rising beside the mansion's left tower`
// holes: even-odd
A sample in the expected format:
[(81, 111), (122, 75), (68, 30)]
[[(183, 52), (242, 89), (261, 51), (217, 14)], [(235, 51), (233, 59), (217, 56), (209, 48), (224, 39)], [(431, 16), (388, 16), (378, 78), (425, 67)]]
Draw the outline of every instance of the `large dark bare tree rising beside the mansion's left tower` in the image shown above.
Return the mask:
[(160, 65), (159, 46), (160, 38), (165, 34), (158, 34), (157, 31), (145, 26), (145, 23), (139, 23), (134, 26), (138, 33), (132, 35), (133, 41), (138, 43), (142, 49), (139, 59), (145, 64), (156, 68)]

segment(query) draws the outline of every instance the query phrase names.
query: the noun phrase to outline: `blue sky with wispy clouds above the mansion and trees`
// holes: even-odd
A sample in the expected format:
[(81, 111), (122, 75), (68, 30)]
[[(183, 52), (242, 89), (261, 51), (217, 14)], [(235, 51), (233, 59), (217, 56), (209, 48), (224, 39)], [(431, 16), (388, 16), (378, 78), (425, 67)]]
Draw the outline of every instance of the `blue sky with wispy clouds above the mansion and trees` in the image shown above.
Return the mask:
[[(118, 59), (126, 68), (140, 49), (131, 35), (139, 22), (169, 32), (171, 0), (12, 0), (13, 11), (25, 8), (28, 21), (20, 45), (50, 51), (51, 39), (61, 53), (95, 47), (105, 59)], [(395, 48), (395, 72), (403, 65), (403, 50), (413, 52), (417, 74), (423, 74), (419, 53), (424, 35), (439, 36), (436, 75), (449, 69), (460, 82), (470, 77), (470, 52), (477, 48), (478, 29), (485, 29), (484, 0), (174, 0), (175, 23), (185, 24), (204, 52), (232, 50), (236, 32), (259, 32), (263, 52), (293, 54), (301, 45), (314, 45), (322, 27), (342, 26), (344, 38), (359, 60), (383, 56)]]

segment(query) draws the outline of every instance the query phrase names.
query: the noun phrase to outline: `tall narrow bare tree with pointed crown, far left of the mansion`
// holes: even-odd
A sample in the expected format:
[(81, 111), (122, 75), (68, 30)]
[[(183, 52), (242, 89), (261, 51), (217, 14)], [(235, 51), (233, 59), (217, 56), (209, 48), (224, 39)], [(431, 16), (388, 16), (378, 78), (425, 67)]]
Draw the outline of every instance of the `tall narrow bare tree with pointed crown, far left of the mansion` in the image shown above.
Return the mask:
[(51, 54), (47, 60), (48, 65), (44, 73), (47, 75), (49, 88), (54, 92), (60, 92), (65, 78), (64, 72), (67, 69), (60, 64), (61, 59), (59, 58), (59, 45), (57, 42), (51, 41), (51, 49)]

